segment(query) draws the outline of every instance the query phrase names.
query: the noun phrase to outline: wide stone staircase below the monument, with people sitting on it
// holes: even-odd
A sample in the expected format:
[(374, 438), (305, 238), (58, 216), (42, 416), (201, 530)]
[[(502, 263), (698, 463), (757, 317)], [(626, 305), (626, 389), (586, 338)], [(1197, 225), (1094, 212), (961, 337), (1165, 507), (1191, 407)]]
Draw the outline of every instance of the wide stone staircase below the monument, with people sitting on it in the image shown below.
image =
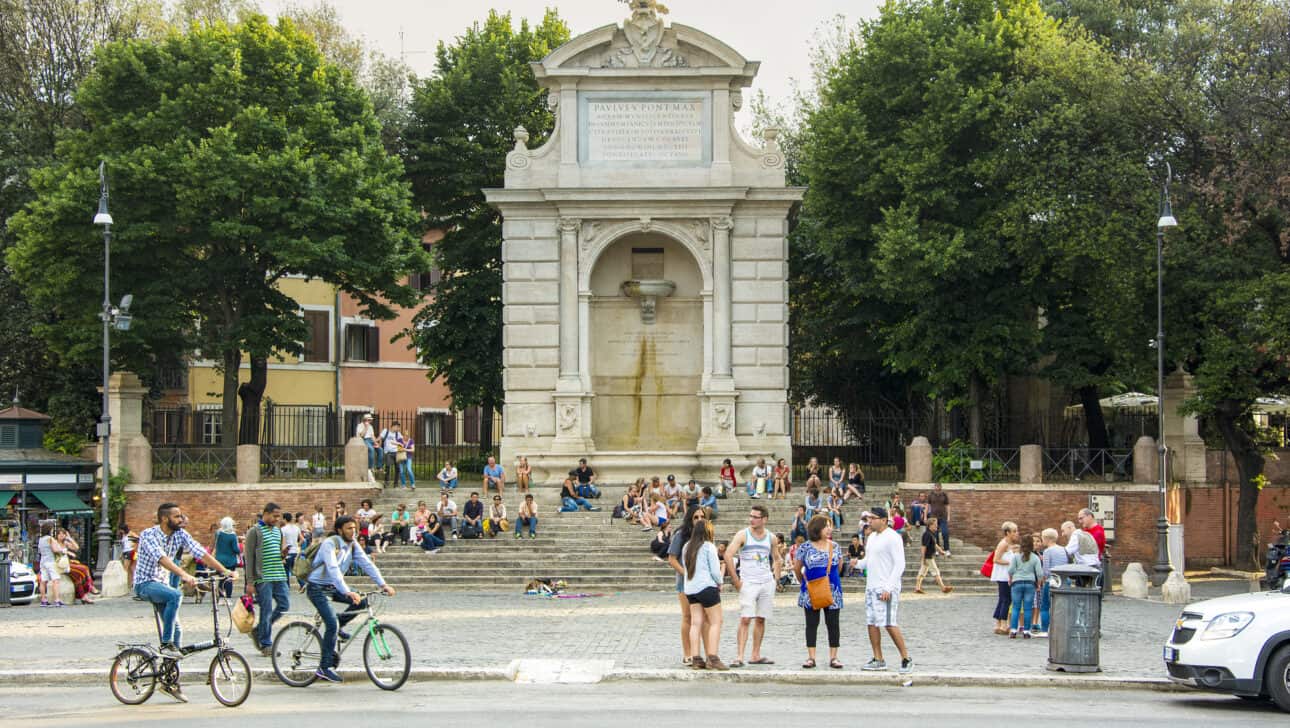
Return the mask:
[[(538, 503), (538, 534), (529, 538), (516, 538), (513, 516), (519, 510), (519, 497), (513, 488), (507, 488), (506, 506), (512, 520), (512, 531), (495, 538), (449, 540), (441, 551), (428, 554), (421, 547), (391, 545), (386, 554), (377, 556), (377, 564), (383, 576), (399, 589), (413, 590), (458, 590), (458, 591), (522, 591), (533, 578), (564, 580), (571, 591), (662, 591), (675, 587), (675, 572), (654, 559), (649, 551), (653, 532), (642, 532), (640, 525), (610, 519), (613, 505), (620, 498), (626, 487), (608, 485), (600, 500), (592, 501), (601, 511), (559, 512), (560, 489), (533, 488)], [(458, 510), (464, 507), (471, 488), (457, 489), (453, 500)], [(482, 496), (482, 493), (481, 493)], [(886, 489), (871, 488), (864, 503), (878, 505), (886, 501)], [(789, 500), (770, 501), (765, 497), (752, 501), (742, 492), (731, 493), (719, 501), (719, 515), (713, 524), (716, 538), (729, 541), (735, 531), (747, 521), (748, 505), (762, 503), (770, 510), (769, 528), (787, 536), (793, 512), (804, 493), (797, 489)], [(418, 500), (433, 507), (439, 501), (436, 489), (421, 488), (415, 492), (386, 489), (375, 502), (378, 512), (390, 514), (402, 502), (408, 510), (415, 510)], [(491, 502), (489, 498), (484, 498)], [(859, 514), (864, 505), (851, 501), (844, 512), (845, 523), (833, 538), (845, 545), (859, 527)], [(486, 511), (485, 511), (486, 512)], [(388, 518), (388, 515), (386, 515)], [(446, 528), (445, 528), (446, 531)], [(912, 591), (918, 571), (920, 547), (917, 532), (906, 549), (904, 590)], [(993, 592), (995, 586), (979, 573), (986, 552), (977, 546), (951, 538), (953, 558), (937, 560), (946, 583), (955, 592)], [(863, 578), (844, 580), (844, 590), (863, 591)], [(924, 581), (929, 594), (939, 592), (935, 580)]]

